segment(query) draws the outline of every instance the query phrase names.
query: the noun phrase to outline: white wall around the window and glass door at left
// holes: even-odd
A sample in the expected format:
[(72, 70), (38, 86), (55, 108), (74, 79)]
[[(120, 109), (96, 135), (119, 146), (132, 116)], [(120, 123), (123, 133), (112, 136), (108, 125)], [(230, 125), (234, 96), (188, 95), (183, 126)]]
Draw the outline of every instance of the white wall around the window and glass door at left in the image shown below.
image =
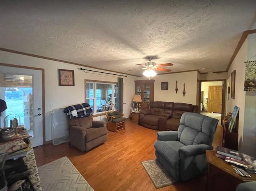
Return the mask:
[[(56, 62), (42, 58), (35, 58), (21, 54), (0, 51), (0, 62), (5, 64), (15, 64), (20, 66), (28, 66), (35, 68), (44, 68), (45, 72), (45, 112), (46, 112), (46, 141), (51, 140), (51, 111), (54, 108), (64, 108), (69, 105), (84, 103), (84, 79), (102, 80), (109, 82), (117, 82), (117, 77), (103, 76), (99, 74), (84, 73), (74, 64)], [(66, 70), (74, 70), (75, 86), (58, 86), (58, 68)], [(82, 67), (85, 68), (85, 67)], [(91, 70), (91, 68), (88, 68)], [(17, 69), (18, 70), (18, 69)], [(98, 70), (100, 71), (100, 70)], [(102, 71), (104, 72), (104, 71)], [(112, 72), (114, 74), (114, 72)], [(118, 73), (116, 73), (118, 74)], [(124, 114), (129, 117), (130, 102), (134, 96), (134, 76), (124, 78)], [(49, 107), (49, 103), (53, 103), (54, 107)], [(95, 117), (94, 120), (103, 117)]]

